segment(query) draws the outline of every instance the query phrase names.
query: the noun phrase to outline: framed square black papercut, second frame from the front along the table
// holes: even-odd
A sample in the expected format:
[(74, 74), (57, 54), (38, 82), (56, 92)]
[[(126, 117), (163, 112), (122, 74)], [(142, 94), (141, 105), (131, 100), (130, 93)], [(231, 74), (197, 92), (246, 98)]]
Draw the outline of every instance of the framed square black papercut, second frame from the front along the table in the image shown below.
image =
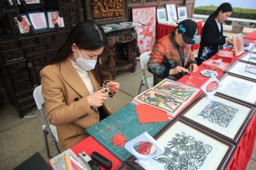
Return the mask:
[(253, 113), (253, 106), (220, 94), (214, 95), (211, 99), (207, 99), (203, 94), (186, 108), (180, 117), (236, 144)]

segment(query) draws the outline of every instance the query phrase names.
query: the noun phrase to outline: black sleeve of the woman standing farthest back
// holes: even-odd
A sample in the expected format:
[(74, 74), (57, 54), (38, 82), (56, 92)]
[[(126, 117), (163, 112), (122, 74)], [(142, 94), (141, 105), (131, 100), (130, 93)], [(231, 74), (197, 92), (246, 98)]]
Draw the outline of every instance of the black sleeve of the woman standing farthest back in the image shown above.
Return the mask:
[(225, 38), (214, 38), (214, 28), (209, 24), (204, 25), (202, 37), (204, 37), (205, 45), (214, 46), (224, 45), (226, 43)]

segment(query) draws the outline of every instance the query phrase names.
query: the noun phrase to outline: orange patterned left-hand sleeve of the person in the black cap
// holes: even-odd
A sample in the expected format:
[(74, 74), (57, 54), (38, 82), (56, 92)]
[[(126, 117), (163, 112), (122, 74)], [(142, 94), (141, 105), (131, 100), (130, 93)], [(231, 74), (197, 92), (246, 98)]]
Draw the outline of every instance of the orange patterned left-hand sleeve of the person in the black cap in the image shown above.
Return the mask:
[(148, 71), (159, 77), (166, 77), (169, 75), (170, 69), (163, 64), (164, 60), (164, 46), (156, 43), (148, 60)]

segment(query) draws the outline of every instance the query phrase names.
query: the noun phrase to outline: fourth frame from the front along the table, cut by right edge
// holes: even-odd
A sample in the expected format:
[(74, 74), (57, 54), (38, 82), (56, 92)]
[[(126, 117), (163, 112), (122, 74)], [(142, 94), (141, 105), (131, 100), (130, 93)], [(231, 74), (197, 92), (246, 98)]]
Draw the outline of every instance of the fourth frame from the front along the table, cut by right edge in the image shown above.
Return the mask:
[(232, 66), (228, 67), (225, 72), (256, 80), (256, 64), (250, 64), (241, 60), (237, 60)]

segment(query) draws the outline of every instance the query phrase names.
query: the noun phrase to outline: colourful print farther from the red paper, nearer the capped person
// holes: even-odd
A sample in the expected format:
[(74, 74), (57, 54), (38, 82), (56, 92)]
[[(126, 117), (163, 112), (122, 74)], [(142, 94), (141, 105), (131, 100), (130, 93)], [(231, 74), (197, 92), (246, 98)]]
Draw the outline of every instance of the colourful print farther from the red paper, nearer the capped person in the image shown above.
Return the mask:
[(162, 81), (162, 83), (159, 83), (159, 85), (157, 85), (154, 89), (184, 100), (187, 100), (198, 91), (197, 89), (193, 89), (186, 85), (180, 85), (179, 83), (169, 80)]

